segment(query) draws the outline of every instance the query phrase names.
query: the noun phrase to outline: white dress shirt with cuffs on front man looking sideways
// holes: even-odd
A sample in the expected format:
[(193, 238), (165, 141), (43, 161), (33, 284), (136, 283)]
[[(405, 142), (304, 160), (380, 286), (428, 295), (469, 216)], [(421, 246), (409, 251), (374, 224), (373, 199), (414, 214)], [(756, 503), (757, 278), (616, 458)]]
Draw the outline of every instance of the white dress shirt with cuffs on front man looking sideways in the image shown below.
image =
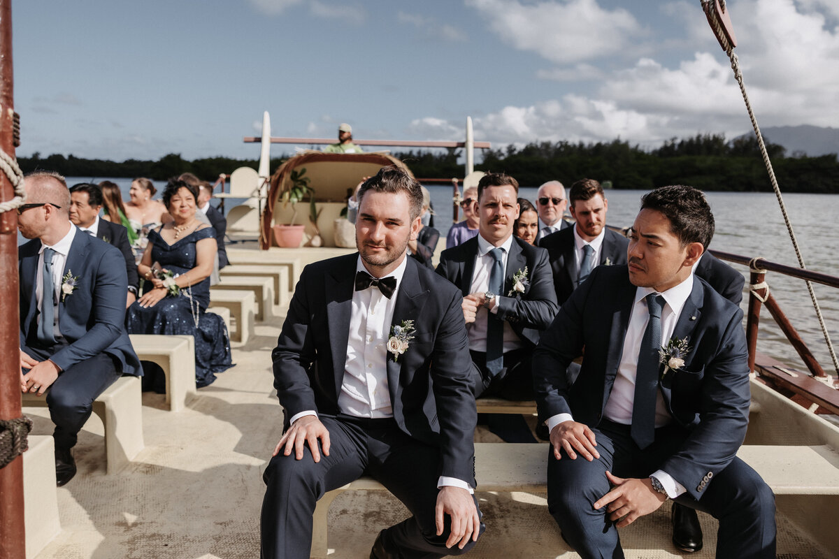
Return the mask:
[[(673, 336), (673, 330), (679, 321), (682, 308), (685, 306), (690, 292), (693, 291), (694, 276), (690, 276), (675, 287), (660, 293), (664, 297), (664, 308), (661, 310), (661, 344)], [(603, 409), (603, 415), (608, 420), (623, 425), (632, 424), (632, 408), (635, 399), (635, 373), (638, 367), (638, 351), (641, 347), (641, 339), (644, 338), (644, 330), (647, 329), (649, 312), (647, 310), (646, 297), (655, 290), (650, 287), (638, 287), (635, 290), (635, 303), (633, 303), (632, 315), (629, 317), (629, 326), (626, 337), (623, 339), (621, 361), (618, 364), (618, 375), (612, 385), (612, 392)], [(561, 422), (572, 421), (570, 413), (560, 413), (550, 417), (546, 422), (548, 430), (552, 430)], [(664, 398), (660, 391), (655, 395), (655, 427), (664, 427), (673, 421), (673, 417), (664, 406)], [(685, 487), (673, 479), (670, 474), (659, 470), (652, 474), (661, 482), (671, 499), (685, 493)]]

